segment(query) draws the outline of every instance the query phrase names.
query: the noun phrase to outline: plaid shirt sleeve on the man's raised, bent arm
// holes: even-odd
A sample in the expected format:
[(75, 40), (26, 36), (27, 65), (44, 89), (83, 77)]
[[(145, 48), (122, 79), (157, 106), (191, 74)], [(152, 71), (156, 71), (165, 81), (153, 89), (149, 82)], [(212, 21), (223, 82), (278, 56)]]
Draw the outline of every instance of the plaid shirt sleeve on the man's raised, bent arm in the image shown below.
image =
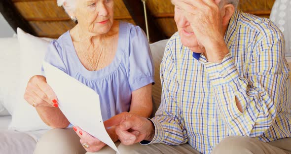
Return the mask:
[(239, 74), (230, 53), (221, 64), (205, 64), (218, 110), (232, 135), (263, 134), (275, 121), (278, 105), (284, 102), (285, 87), (290, 87), (281, 33), (267, 34), (256, 43), (244, 75)]

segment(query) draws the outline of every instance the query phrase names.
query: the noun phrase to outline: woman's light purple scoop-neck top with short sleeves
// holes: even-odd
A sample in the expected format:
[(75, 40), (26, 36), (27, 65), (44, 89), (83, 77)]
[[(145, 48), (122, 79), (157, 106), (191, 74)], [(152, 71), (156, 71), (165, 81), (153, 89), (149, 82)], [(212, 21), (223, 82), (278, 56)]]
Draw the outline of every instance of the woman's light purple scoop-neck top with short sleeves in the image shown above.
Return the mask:
[[(49, 45), (44, 60), (99, 94), (103, 120), (128, 112), (132, 91), (154, 82), (154, 66), (143, 30), (120, 22), (118, 47), (109, 66), (88, 71), (80, 62), (69, 31)], [(43, 70), (43, 69), (42, 69)]]

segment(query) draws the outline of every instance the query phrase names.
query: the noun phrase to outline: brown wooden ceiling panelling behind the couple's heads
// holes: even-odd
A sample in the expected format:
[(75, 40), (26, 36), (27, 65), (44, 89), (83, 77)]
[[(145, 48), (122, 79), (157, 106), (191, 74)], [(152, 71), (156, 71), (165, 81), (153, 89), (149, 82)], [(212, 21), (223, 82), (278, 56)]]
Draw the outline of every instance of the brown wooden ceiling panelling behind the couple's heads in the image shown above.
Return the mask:
[[(3, 2), (5, 0), (0, 1), (2, 1), (0, 2), (2, 5), (11, 4), (14, 7), (14, 11), (20, 14), (38, 37), (58, 38), (75, 25), (64, 9), (57, 6), (57, 0), (8, 0), (11, 1), (8, 3)], [(274, 1), (240, 0), (239, 8), (258, 16), (269, 17)], [(138, 7), (133, 5), (133, 2), (138, 2)], [(141, 22), (144, 20), (144, 17), (141, 16), (141, 13), (143, 13), (141, 0), (114, 0), (114, 3), (114, 18), (116, 20), (127, 21), (137, 24), (143, 29), (145, 28), (145, 25), (141, 25), (144, 24)], [(146, 0), (146, 7), (149, 14), (150, 38), (153, 35), (157, 35), (157, 33), (160, 36), (169, 38), (177, 31), (174, 21), (174, 6), (170, 0)], [(5, 9), (7, 10), (6, 6), (0, 6), (2, 14), (5, 13)], [(140, 14), (140, 16), (136, 16), (136, 14)], [(3, 16), (6, 20), (9, 18), (9, 14), (8, 17), (7, 14), (3, 14)], [(9, 21), (8, 23), (10, 24)], [(160, 39), (164, 38), (160, 37)]]

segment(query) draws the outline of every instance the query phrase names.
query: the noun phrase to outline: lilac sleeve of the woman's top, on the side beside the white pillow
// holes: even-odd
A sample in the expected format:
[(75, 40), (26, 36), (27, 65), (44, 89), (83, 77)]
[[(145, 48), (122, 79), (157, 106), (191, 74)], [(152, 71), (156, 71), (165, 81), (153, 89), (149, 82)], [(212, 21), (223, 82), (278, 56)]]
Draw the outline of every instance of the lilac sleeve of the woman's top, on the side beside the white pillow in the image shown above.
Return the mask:
[[(61, 71), (67, 73), (67, 69), (66, 66), (63, 62), (63, 58), (62, 58), (62, 47), (59, 45), (59, 43), (57, 42), (57, 40), (53, 40), (47, 49), (47, 52), (44, 56), (44, 60), (45, 62), (49, 63), (50, 65), (60, 69)], [(45, 77), (45, 72), (43, 70), (43, 66), (41, 66), (41, 74), (42, 76)]]

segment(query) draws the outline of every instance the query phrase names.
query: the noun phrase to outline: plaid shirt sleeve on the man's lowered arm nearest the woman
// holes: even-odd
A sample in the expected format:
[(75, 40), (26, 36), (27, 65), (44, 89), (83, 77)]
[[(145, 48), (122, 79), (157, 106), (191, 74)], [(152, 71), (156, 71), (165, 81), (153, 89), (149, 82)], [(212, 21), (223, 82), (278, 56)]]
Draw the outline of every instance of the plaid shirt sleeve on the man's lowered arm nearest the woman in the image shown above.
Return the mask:
[(155, 127), (155, 135), (149, 144), (180, 145), (188, 141), (183, 114), (178, 104), (179, 82), (175, 63), (175, 58), (168, 43), (160, 66), (161, 105), (156, 115), (151, 119)]

